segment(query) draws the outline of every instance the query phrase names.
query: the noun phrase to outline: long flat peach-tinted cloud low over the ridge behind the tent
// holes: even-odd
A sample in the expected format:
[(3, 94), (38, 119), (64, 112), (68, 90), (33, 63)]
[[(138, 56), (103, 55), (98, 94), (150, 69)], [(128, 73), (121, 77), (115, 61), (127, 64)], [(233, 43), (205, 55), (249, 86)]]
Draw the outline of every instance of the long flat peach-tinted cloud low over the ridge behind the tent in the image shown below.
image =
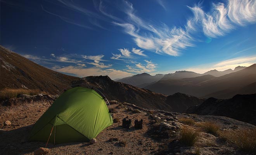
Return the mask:
[(117, 79), (117, 78), (123, 78), (127, 76), (132, 76), (133, 74), (125, 71), (120, 71), (116, 69), (100, 69), (97, 67), (92, 68), (80, 68), (80, 67), (74, 67), (74, 66), (67, 66), (62, 68), (57, 68), (55, 71), (58, 72), (65, 72), (65, 73), (71, 73), (76, 74), (79, 77), (86, 77), (86, 76), (109, 76), (111, 79)]

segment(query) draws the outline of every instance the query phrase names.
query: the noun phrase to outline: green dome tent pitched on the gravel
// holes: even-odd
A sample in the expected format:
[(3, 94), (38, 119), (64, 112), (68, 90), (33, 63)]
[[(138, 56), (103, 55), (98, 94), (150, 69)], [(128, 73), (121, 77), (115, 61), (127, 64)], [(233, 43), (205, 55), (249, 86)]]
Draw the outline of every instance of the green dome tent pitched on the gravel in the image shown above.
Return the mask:
[(75, 87), (62, 93), (38, 119), (29, 141), (89, 141), (112, 124), (104, 98), (92, 89)]

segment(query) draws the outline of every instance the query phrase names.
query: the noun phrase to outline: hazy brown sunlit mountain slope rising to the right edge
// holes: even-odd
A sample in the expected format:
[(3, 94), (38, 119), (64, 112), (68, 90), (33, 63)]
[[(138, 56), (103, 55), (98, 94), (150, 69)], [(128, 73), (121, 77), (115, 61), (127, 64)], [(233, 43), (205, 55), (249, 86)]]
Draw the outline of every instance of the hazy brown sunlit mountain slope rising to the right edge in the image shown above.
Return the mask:
[(240, 71), (220, 77), (205, 75), (193, 78), (160, 80), (145, 88), (166, 95), (180, 92), (203, 98), (224, 99), (231, 98), (238, 93), (255, 93), (255, 82), (256, 64), (253, 64)]

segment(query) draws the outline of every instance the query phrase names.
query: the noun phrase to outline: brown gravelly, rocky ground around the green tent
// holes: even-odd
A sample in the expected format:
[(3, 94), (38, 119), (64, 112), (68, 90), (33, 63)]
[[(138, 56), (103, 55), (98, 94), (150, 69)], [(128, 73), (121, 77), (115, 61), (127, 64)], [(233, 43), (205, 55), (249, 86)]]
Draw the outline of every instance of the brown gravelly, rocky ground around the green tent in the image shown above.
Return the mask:
[[(206, 133), (197, 126), (201, 122), (209, 121), (218, 124), (220, 130), (255, 129), (252, 124), (222, 116), (170, 113), (128, 103), (112, 103), (113, 118), (120, 121), (104, 129), (96, 137), (97, 143), (48, 144), (50, 155), (195, 155), (198, 150), (200, 155), (255, 154), (241, 152), (234, 145), (221, 140), (218, 135)], [(34, 150), (45, 147), (45, 142), (28, 142), (27, 138), (33, 124), (50, 105), (50, 102), (31, 102), (12, 107), (0, 106), (0, 155), (33, 155)], [(133, 121), (131, 129), (121, 127), (121, 120), (126, 116)], [(193, 119), (195, 124), (182, 124), (179, 121), (182, 117)], [(133, 127), (135, 119), (143, 119), (143, 129)], [(7, 120), (12, 124), (3, 126), (3, 122)], [(199, 131), (194, 146), (186, 147), (180, 143), (182, 126)], [(164, 127), (170, 128), (164, 131)]]

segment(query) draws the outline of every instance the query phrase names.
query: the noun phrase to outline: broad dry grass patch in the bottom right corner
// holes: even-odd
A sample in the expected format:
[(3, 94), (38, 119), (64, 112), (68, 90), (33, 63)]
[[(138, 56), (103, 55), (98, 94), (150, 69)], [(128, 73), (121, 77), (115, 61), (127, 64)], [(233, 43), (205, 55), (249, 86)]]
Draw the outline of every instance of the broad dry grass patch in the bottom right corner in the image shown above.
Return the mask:
[(244, 152), (256, 152), (256, 128), (241, 129), (234, 131), (221, 131), (219, 133), (223, 140), (233, 143)]

